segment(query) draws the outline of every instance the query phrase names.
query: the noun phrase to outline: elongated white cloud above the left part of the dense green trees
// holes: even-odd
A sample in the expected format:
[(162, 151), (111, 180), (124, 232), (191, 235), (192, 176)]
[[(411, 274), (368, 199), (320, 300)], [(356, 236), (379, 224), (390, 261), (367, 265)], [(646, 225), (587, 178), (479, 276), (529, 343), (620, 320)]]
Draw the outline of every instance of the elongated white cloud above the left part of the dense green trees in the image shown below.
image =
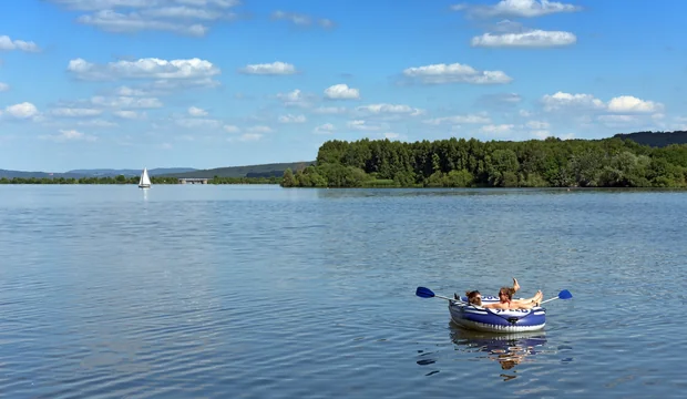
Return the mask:
[(408, 68), (403, 71), (403, 75), (424, 84), (505, 84), (513, 80), (502, 71), (478, 71), (470, 65), (460, 63)]

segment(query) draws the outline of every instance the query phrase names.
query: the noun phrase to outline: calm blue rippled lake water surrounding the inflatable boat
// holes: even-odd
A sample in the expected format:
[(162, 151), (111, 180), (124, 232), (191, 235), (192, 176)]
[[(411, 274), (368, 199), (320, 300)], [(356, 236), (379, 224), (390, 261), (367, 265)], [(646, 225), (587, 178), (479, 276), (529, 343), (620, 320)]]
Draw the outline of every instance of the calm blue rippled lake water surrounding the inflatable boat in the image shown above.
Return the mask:
[[(0, 185), (0, 396), (683, 397), (686, 214), (685, 192)], [(513, 276), (574, 298), (504, 339), (414, 295)]]

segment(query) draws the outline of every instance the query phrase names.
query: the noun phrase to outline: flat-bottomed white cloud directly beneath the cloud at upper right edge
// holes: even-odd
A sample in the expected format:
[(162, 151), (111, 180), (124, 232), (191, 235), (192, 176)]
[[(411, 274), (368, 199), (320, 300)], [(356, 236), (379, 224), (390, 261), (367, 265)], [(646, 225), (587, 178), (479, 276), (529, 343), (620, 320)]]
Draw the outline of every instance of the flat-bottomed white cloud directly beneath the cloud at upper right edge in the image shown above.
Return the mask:
[(486, 48), (550, 48), (571, 45), (577, 42), (577, 37), (571, 32), (533, 30), (523, 33), (484, 33), (472, 38), (473, 47)]

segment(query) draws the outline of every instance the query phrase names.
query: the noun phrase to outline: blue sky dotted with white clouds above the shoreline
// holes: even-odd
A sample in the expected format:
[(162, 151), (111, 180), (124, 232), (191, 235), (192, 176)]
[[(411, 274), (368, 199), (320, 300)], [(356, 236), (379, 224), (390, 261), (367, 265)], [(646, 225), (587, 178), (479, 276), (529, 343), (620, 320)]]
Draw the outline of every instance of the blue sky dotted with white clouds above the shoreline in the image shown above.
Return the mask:
[(22, 0), (0, 168), (309, 161), (327, 140), (687, 130), (681, 1)]

